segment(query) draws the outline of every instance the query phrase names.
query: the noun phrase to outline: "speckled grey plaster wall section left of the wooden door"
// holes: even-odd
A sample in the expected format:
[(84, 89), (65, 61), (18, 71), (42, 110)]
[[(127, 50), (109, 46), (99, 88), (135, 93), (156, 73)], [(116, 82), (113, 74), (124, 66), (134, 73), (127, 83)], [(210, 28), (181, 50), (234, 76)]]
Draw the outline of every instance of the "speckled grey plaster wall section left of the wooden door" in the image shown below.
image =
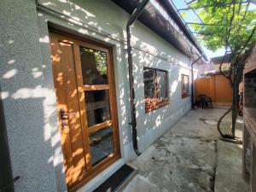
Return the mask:
[(0, 85), (15, 192), (57, 191), (45, 98), (47, 81), (32, 0), (0, 1)]

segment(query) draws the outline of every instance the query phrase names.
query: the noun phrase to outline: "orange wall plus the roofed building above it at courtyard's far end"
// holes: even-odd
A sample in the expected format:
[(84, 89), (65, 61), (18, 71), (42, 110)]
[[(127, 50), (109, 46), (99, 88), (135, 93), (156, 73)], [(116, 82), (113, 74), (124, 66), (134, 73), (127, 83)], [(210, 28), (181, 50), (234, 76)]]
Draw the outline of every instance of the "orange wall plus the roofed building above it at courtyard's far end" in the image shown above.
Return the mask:
[(231, 106), (232, 103), (232, 88), (230, 81), (226, 79), (219, 71), (221, 62), (222, 72), (227, 73), (230, 69), (230, 55), (213, 57), (214, 70), (207, 71), (200, 78), (195, 79), (195, 96), (198, 99), (199, 95), (207, 95), (212, 98), (212, 103), (215, 106)]

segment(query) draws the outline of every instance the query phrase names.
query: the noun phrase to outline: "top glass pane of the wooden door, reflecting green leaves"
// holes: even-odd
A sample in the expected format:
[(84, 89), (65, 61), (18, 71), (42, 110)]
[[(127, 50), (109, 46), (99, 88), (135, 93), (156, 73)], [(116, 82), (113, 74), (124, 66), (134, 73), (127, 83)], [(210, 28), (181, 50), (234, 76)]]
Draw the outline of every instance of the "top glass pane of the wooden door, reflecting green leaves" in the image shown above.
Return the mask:
[(108, 84), (107, 53), (80, 47), (84, 84)]

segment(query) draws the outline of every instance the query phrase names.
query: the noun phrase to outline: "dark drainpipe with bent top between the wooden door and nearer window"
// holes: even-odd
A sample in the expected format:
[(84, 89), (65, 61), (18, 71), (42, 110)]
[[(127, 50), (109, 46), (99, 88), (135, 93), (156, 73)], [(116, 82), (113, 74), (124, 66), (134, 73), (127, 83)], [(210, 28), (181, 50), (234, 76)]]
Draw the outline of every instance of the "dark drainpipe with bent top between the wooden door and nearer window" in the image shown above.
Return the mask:
[(134, 101), (134, 80), (132, 75), (132, 54), (131, 54), (131, 28), (132, 23), (143, 13), (144, 7), (147, 5), (149, 0), (143, 0), (137, 6), (137, 9), (131, 14), (130, 20), (126, 24), (126, 35), (127, 35), (127, 51), (128, 51), (128, 66), (129, 66), (129, 83), (130, 83), (130, 105), (131, 105), (131, 127), (132, 127), (132, 144), (133, 149), (137, 155), (141, 153), (137, 147), (137, 121), (136, 121), (136, 108)]

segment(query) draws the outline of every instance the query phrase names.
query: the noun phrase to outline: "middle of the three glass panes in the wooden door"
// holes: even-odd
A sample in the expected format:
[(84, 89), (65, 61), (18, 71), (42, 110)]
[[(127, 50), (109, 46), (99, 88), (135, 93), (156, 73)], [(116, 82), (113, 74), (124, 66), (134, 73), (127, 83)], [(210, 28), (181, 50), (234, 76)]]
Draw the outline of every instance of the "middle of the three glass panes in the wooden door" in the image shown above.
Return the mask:
[(84, 94), (89, 127), (111, 119), (108, 90), (87, 90)]

